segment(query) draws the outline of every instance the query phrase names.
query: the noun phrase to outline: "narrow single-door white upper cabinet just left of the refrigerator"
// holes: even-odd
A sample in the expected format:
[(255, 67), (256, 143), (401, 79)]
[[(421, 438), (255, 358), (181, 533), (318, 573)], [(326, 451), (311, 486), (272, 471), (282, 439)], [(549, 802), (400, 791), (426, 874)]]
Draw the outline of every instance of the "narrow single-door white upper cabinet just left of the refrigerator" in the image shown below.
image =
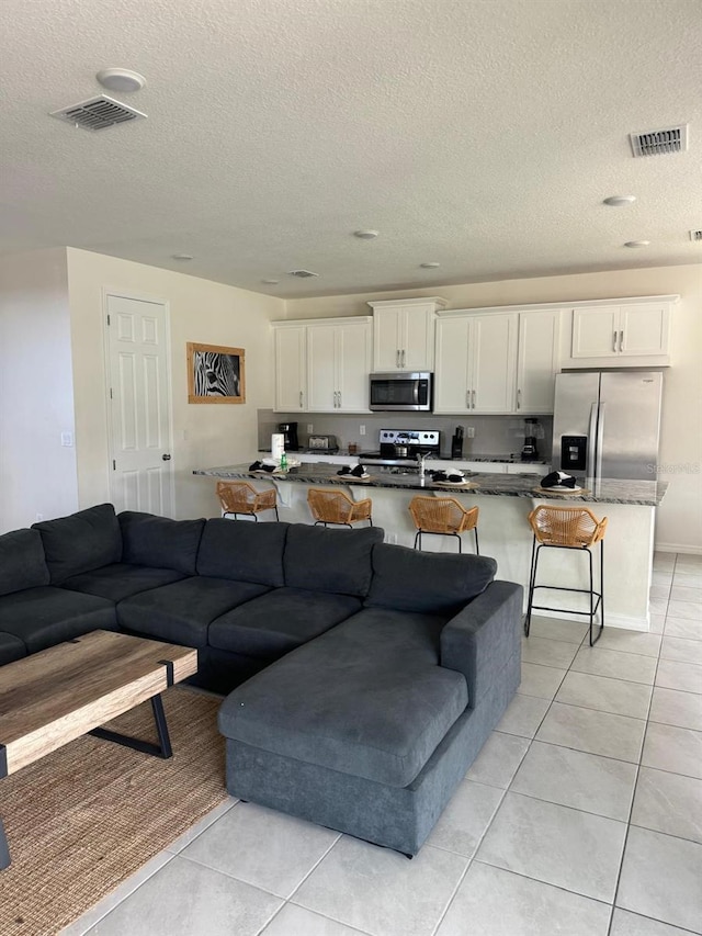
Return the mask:
[(559, 311), (519, 313), (516, 413), (553, 413), (559, 335)]

